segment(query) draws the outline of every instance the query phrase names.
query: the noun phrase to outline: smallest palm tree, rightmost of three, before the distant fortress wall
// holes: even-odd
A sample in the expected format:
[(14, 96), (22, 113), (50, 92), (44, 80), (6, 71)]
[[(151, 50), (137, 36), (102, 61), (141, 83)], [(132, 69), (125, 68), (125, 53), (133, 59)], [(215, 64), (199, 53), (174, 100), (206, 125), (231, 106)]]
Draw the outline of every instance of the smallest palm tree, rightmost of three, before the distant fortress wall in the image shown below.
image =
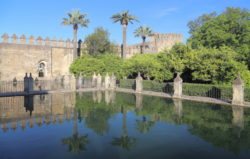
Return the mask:
[(140, 26), (139, 28), (137, 28), (134, 32), (135, 37), (141, 37), (142, 38), (142, 49), (141, 49), (141, 53), (144, 53), (145, 50), (145, 42), (146, 42), (146, 38), (151, 36), (153, 34), (153, 31), (151, 28), (146, 27), (146, 26)]

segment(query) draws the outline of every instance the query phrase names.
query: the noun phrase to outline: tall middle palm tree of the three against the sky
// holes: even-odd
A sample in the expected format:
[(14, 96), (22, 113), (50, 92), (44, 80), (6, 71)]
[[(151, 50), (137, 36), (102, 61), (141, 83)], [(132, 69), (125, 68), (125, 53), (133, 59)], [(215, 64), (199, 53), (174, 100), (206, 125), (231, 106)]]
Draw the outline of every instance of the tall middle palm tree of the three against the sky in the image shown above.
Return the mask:
[(126, 38), (127, 38), (127, 26), (128, 23), (133, 24), (133, 21), (138, 21), (137, 18), (131, 14), (129, 14), (129, 11), (124, 11), (121, 13), (114, 14), (111, 19), (113, 20), (114, 23), (120, 22), (122, 25), (122, 58), (126, 58)]

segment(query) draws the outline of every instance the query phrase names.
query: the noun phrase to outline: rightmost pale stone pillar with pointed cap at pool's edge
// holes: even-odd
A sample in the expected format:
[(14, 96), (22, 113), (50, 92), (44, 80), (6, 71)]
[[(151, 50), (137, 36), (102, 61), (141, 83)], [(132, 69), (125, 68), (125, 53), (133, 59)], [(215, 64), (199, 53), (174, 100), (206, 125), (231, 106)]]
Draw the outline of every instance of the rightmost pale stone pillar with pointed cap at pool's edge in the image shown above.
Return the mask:
[(233, 105), (244, 105), (244, 82), (240, 75), (233, 81)]

